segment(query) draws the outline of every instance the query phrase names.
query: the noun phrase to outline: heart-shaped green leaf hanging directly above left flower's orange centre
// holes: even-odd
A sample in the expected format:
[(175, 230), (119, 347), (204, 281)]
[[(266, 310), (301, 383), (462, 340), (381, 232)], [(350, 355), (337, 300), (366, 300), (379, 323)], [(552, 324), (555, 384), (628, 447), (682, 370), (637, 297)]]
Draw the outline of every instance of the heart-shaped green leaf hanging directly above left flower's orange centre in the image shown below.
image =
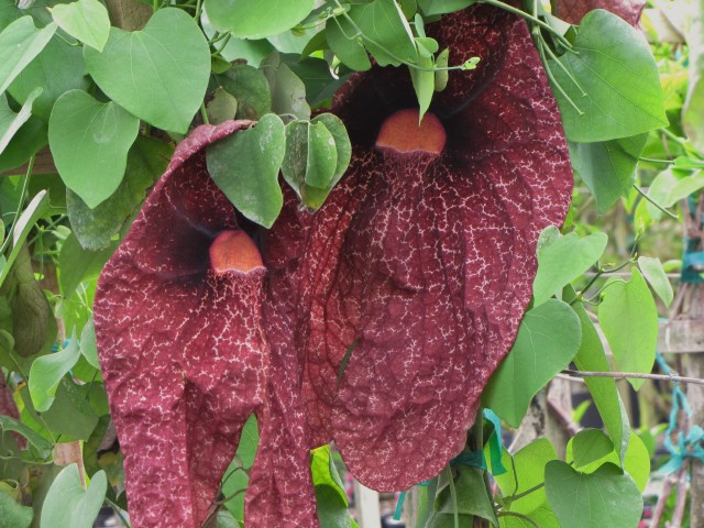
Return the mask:
[(284, 123), (267, 113), (256, 125), (210, 145), (208, 172), (242, 215), (271, 228), (284, 205), (278, 170), (285, 151)]

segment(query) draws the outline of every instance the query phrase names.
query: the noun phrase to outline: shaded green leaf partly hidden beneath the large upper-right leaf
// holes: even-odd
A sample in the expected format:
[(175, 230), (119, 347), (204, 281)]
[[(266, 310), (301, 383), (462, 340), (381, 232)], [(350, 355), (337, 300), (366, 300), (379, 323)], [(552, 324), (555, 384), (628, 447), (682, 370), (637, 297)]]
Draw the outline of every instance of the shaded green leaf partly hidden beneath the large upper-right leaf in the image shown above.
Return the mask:
[(569, 143), (570, 157), (604, 213), (631, 189), (648, 134), (596, 143)]

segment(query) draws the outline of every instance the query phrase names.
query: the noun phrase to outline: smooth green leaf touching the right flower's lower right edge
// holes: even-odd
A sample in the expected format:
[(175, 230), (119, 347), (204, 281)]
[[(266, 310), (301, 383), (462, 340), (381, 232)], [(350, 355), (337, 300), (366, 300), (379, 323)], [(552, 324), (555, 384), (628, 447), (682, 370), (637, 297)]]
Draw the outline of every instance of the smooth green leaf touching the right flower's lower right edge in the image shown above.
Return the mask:
[(484, 389), (484, 405), (517, 427), (536, 393), (570, 364), (581, 334), (578, 317), (561, 300), (527, 311), (513, 349)]

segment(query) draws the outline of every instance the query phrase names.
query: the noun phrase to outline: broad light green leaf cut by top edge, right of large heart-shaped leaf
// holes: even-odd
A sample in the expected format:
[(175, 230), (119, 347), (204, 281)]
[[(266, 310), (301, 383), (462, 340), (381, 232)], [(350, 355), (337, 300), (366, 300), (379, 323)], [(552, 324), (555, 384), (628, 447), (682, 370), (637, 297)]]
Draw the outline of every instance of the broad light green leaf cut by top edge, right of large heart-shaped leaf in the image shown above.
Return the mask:
[(304, 20), (315, 0), (206, 0), (212, 25), (239, 38), (264, 38)]

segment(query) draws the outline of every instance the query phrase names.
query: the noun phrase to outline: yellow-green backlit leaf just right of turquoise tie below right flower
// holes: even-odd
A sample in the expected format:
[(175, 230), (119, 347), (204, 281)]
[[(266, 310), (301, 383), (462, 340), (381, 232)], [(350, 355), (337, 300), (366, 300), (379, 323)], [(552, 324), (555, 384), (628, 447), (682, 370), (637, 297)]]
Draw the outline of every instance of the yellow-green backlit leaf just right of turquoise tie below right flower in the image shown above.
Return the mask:
[(494, 480), (502, 491), (506, 509), (528, 515), (539, 508), (547, 501), (544, 488), (538, 488), (515, 501), (507, 498), (542, 484), (546, 464), (557, 459), (558, 453), (547, 438), (534, 440), (513, 457), (504, 450), (502, 463), (508, 471), (494, 475)]

